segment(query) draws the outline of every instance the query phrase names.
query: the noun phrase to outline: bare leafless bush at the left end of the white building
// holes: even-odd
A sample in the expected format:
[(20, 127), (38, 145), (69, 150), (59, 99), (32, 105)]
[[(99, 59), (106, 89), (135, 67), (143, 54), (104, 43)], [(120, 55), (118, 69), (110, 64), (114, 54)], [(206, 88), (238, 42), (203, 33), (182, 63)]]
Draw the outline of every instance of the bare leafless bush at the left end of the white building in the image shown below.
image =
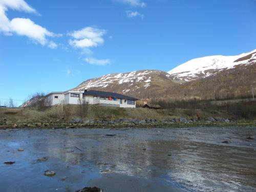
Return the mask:
[(45, 93), (35, 93), (29, 96), (24, 106), (37, 108), (39, 111), (44, 111), (51, 106), (51, 99), (47, 97)]

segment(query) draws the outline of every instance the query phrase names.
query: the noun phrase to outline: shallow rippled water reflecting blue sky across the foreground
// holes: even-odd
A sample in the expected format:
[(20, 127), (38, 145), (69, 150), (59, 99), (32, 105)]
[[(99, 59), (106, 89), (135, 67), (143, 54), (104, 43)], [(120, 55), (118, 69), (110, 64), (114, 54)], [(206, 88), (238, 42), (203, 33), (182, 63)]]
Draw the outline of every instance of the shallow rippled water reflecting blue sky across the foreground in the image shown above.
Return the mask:
[(256, 191), (255, 138), (256, 127), (0, 130), (0, 191)]

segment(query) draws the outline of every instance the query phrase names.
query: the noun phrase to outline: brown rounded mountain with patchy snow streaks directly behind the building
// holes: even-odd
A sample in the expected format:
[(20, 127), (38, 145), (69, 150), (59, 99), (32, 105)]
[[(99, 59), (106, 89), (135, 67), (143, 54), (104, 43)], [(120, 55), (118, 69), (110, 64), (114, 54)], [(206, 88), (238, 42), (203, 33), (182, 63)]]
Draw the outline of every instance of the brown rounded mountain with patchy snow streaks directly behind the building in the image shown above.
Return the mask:
[(137, 98), (152, 98), (165, 95), (175, 84), (177, 83), (164, 71), (140, 70), (89, 79), (72, 91), (88, 89), (116, 92)]

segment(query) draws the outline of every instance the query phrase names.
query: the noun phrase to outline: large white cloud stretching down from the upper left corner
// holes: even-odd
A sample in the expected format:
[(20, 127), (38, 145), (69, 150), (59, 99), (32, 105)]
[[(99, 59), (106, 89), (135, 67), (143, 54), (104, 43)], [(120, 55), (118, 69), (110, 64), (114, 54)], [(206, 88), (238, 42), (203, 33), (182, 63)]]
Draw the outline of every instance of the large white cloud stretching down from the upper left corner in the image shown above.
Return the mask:
[(27, 36), (42, 46), (48, 45), (50, 48), (56, 48), (57, 45), (53, 41), (49, 41), (47, 37), (58, 36), (46, 28), (35, 24), (29, 18), (13, 18), (9, 20), (6, 11), (8, 9), (36, 13), (36, 10), (29, 6), (24, 0), (0, 0), (0, 32), (5, 35), (17, 34)]

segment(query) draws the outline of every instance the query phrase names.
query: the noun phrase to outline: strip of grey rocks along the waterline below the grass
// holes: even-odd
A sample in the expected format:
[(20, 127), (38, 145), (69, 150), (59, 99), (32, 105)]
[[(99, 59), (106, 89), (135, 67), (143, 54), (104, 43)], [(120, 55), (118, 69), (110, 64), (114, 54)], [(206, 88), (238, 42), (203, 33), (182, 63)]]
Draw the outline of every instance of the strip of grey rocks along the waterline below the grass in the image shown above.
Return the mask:
[(208, 119), (187, 119), (185, 117), (180, 118), (170, 118), (170, 119), (154, 119), (154, 118), (146, 118), (146, 119), (81, 119), (81, 118), (73, 118), (70, 120), (56, 120), (49, 122), (26, 122), (26, 123), (15, 123), (9, 122), (4, 119), (0, 128), (74, 128), (74, 127), (151, 127), (151, 126), (189, 126), (189, 125), (214, 125), (214, 124), (229, 124), (235, 122), (232, 119), (224, 119), (224, 118), (213, 118), (210, 117)]

